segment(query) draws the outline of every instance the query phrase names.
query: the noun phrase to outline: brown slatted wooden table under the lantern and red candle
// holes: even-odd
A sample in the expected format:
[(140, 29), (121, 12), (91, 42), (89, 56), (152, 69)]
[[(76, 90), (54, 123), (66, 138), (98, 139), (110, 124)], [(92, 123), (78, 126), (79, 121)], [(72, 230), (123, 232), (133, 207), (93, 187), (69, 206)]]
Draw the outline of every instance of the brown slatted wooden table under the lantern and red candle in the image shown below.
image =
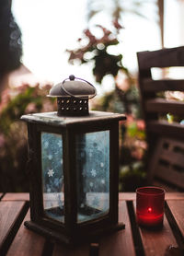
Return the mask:
[(184, 255), (184, 192), (167, 192), (164, 227), (159, 231), (137, 227), (135, 193), (120, 193), (119, 219), (125, 223), (125, 229), (100, 239), (99, 243), (73, 250), (53, 244), (24, 227), (24, 221), (29, 220), (28, 193), (0, 193), (0, 199), (1, 256)]

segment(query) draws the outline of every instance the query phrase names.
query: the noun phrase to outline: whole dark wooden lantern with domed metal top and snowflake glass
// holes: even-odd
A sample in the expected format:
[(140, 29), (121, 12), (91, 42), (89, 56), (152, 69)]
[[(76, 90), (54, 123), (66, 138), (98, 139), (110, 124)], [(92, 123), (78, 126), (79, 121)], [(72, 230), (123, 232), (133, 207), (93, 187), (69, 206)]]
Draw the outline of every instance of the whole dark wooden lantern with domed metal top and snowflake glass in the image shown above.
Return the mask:
[(118, 223), (117, 113), (88, 111), (96, 89), (70, 76), (52, 87), (58, 112), (24, 115), (29, 136), (30, 221), (40, 234), (77, 244)]

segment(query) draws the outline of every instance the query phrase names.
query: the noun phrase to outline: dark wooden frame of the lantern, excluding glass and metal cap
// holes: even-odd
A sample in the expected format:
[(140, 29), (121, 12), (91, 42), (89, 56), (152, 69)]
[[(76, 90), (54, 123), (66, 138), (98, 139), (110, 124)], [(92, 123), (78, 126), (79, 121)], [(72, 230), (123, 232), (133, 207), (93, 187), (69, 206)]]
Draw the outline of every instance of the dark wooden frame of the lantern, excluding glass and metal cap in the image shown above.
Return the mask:
[[(123, 114), (90, 111), (86, 117), (58, 117), (56, 112), (24, 115), (29, 134), (30, 221), (25, 226), (49, 239), (65, 244), (78, 244), (88, 239), (121, 229), (118, 223), (119, 188), (119, 121)], [(75, 137), (109, 130), (109, 213), (77, 223), (77, 192), (75, 171)], [(64, 223), (44, 214), (41, 181), (40, 134), (63, 136)]]

